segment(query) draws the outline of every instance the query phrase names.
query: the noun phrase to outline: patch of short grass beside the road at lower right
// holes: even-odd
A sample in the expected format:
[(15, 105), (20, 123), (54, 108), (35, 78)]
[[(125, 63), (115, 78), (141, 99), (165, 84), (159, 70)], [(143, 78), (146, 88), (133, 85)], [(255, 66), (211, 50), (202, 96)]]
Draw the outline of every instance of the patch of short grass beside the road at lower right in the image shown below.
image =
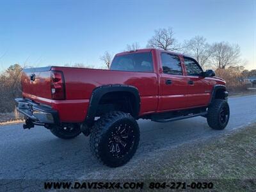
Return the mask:
[(140, 175), (149, 180), (208, 180), (216, 191), (256, 191), (256, 124), (164, 152)]

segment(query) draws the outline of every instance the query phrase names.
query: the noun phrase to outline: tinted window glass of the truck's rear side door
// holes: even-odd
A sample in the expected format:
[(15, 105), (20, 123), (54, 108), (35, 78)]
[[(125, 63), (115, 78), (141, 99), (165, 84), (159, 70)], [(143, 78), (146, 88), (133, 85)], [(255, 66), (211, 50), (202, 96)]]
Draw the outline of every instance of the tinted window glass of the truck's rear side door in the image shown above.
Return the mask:
[(161, 60), (164, 74), (182, 75), (179, 56), (162, 52)]

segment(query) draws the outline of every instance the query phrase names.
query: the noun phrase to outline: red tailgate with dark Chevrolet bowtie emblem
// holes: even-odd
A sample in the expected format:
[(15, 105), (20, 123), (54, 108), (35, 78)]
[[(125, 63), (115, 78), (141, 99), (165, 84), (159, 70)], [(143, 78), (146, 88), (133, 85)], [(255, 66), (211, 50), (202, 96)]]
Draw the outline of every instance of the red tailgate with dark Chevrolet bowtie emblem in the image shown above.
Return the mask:
[(51, 67), (24, 68), (21, 82), (23, 97), (49, 104), (48, 99), (52, 97)]

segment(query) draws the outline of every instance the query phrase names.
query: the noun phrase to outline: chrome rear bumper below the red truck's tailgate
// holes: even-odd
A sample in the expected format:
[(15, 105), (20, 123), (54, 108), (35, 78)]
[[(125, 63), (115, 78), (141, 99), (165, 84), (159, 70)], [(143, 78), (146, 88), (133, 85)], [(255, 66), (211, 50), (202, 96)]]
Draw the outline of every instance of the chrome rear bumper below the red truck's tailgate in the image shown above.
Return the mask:
[(17, 110), (30, 120), (39, 124), (58, 124), (60, 122), (58, 112), (46, 106), (40, 106), (29, 99), (16, 98)]

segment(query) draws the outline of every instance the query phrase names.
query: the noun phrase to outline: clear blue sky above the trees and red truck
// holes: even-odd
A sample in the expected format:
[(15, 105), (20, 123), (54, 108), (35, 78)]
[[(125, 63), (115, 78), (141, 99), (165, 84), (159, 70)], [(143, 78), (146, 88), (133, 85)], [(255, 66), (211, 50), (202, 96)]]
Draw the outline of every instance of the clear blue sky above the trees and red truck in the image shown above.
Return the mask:
[(0, 71), (15, 63), (101, 67), (105, 51), (145, 47), (155, 29), (168, 27), (180, 43), (200, 35), (239, 44), (245, 67), (256, 68), (256, 0), (0, 0)]

